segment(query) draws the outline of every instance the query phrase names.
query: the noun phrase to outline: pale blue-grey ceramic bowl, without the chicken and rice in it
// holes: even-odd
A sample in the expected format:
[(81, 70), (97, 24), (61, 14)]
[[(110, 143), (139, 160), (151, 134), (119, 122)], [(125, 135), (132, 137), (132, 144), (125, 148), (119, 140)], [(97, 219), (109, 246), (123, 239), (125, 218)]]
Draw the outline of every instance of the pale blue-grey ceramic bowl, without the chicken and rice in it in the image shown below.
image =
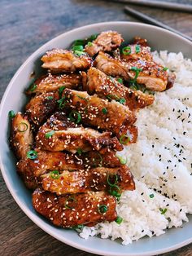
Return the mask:
[(90, 253), (100, 255), (114, 256), (143, 256), (155, 255), (177, 249), (181, 246), (192, 242), (192, 217), (189, 216), (189, 223), (184, 223), (183, 228), (172, 228), (164, 235), (158, 237), (144, 237), (139, 241), (133, 242), (132, 245), (121, 245), (120, 241), (102, 240), (98, 237), (89, 238), (88, 241), (81, 239), (78, 234), (72, 230), (51, 225), (45, 218), (33, 210), (31, 192), (24, 187), (24, 183), (15, 172), (15, 157), (11, 152), (8, 144), (9, 120), (8, 112), (13, 109), (15, 112), (20, 111), (26, 103), (24, 89), (30, 83), (30, 73), (34, 70), (36, 74), (41, 73), (40, 58), (47, 50), (55, 47), (67, 48), (74, 40), (86, 38), (91, 34), (100, 33), (105, 30), (116, 30), (123, 35), (125, 41), (129, 41), (134, 36), (146, 38), (152, 47), (156, 50), (168, 50), (174, 52), (183, 52), (185, 57), (192, 59), (192, 43), (185, 38), (181, 38), (175, 33), (168, 30), (159, 29), (155, 26), (133, 23), (133, 22), (107, 22), (100, 24), (91, 24), (89, 26), (73, 29), (68, 33), (63, 33), (41, 46), (31, 55), (28, 60), (20, 67), (12, 78), (7, 90), (3, 96), (0, 108), (0, 163), (2, 176), (7, 183), (7, 188), (11, 192), (15, 201), (20, 208), (33, 220), (37, 226), (45, 232), (54, 236), (59, 241), (85, 250)]

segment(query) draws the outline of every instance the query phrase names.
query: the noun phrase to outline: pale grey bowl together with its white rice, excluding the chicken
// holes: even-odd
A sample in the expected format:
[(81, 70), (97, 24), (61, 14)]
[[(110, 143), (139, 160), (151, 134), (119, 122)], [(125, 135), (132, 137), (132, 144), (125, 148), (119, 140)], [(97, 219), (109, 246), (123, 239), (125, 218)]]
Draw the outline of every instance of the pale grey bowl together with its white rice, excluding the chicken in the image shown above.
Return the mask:
[[(84, 227), (80, 232), (55, 227), (33, 209), (31, 192), (15, 172), (15, 158), (7, 143), (10, 109), (26, 103), (30, 74), (41, 73), (41, 55), (68, 48), (76, 38), (116, 30), (125, 42), (146, 38), (155, 62), (175, 73), (170, 90), (155, 93), (155, 103), (137, 113), (137, 143), (124, 147), (136, 190), (123, 192), (115, 222)], [(73, 29), (47, 42), (31, 55), (12, 78), (0, 108), (2, 176), (20, 208), (38, 227), (59, 241), (99, 255), (156, 255), (192, 242), (192, 43), (175, 33), (133, 22), (107, 22)]]

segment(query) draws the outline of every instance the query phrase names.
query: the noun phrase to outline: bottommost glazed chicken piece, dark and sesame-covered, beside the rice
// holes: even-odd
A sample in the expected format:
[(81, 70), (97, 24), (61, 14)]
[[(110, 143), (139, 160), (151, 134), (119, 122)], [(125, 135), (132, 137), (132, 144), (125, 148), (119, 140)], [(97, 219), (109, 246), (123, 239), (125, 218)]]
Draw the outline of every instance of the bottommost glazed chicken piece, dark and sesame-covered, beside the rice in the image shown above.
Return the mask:
[(56, 196), (37, 189), (33, 192), (33, 207), (60, 227), (94, 226), (104, 220), (114, 221), (117, 217), (116, 198), (105, 192)]

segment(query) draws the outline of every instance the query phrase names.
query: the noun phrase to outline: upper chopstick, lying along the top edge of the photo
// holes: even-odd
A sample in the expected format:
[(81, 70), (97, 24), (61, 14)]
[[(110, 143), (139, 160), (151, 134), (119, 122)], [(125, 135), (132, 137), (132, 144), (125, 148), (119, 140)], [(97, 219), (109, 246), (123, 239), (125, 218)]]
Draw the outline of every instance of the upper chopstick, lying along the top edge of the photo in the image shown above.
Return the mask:
[(164, 10), (184, 11), (192, 13), (192, 5), (177, 2), (149, 1), (149, 0), (112, 0), (113, 2), (131, 3), (137, 6), (162, 8)]

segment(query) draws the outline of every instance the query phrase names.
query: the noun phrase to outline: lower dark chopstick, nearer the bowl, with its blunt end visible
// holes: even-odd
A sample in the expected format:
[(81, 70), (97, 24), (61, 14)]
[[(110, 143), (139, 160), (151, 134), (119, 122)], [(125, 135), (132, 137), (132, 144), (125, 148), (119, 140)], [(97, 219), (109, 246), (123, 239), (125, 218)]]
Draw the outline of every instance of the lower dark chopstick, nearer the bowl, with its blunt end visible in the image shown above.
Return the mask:
[(145, 14), (143, 14), (143, 13), (140, 12), (140, 11), (136, 11), (136, 10), (134, 10), (133, 8), (130, 8), (130, 7), (124, 7), (124, 11), (125, 11), (126, 13), (129, 13), (130, 15), (133, 15), (134, 17), (136, 17), (136, 18), (139, 19), (139, 20), (146, 21), (146, 23), (148, 23), (148, 24), (154, 24), (154, 25), (156, 25), (156, 26), (158, 26), (158, 27), (161, 27), (161, 28), (164, 28), (164, 29), (168, 29), (168, 30), (170, 30), (170, 31), (172, 31), (172, 32), (174, 32), (174, 33), (179, 34), (181, 37), (187, 38), (188, 40), (192, 41), (192, 38), (190, 38), (189, 36), (187, 36), (187, 35), (185, 35), (185, 34), (179, 32), (179, 31), (176, 30), (176, 29), (172, 29), (172, 28), (169, 27), (168, 25), (166, 25), (166, 24), (160, 22), (159, 20), (155, 20), (155, 19), (151, 18), (150, 16), (145, 15)]

